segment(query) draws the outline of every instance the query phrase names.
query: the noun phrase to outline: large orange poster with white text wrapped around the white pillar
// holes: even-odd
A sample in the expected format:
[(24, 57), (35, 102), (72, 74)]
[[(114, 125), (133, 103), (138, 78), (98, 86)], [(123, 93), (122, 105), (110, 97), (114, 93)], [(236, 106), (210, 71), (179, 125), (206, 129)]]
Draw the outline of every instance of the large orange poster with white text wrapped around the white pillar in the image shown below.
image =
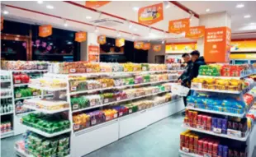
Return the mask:
[(231, 30), (228, 27), (205, 31), (204, 58), (206, 62), (230, 62)]

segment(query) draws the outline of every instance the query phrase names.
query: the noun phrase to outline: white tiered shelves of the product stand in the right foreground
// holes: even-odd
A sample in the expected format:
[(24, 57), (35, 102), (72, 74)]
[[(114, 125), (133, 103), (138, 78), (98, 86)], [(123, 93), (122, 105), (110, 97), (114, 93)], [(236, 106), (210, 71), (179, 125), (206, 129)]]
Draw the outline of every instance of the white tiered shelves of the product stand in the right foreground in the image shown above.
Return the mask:
[[(248, 76), (248, 75), (246, 75)], [(240, 77), (225, 77), (225, 76), (198, 76), (201, 78), (220, 78), (220, 79), (242, 79), (246, 76), (240, 76)], [(244, 99), (243, 95), (248, 92), (250, 89), (252, 89), (254, 87), (254, 85), (250, 85), (247, 89), (244, 89), (243, 91), (230, 91), (230, 90), (206, 90), (206, 89), (202, 89), (201, 88), (201, 83), (193, 83), (192, 82), (192, 90), (194, 90), (194, 95), (197, 92), (206, 92), (209, 95), (211, 95), (211, 93), (222, 93), (225, 95), (230, 95), (231, 97), (237, 98), (239, 96), (239, 99)], [(254, 98), (255, 100), (255, 98)], [(254, 100), (251, 104), (249, 104), (249, 109), (252, 105), (254, 105)], [(200, 104), (197, 104), (200, 105)], [(249, 109), (245, 110), (244, 113), (225, 113), (225, 112), (220, 112), (220, 111), (213, 111), (213, 110), (207, 110), (207, 109), (198, 109), (196, 108), (196, 104), (187, 104), (186, 109), (188, 110), (192, 110), (192, 111), (199, 111), (199, 112), (203, 112), (203, 113), (214, 113), (214, 114), (219, 114), (219, 115), (224, 115), (224, 116), (229, 116), (229, 117), (234, 117), (234, 118), (244, 118), (246, 113), (249, 112)], [(183, 123), (182, 127), (187, 128), (187, 130), (191, 130), (194, 132), (201, 132), (207, 135), (211, 135), (211, 136), (217, 136), (217, 137), (223, 137), (226, 139), (232, 139), (235, 141), (242, 141), (245, 142), (247, 145), (247, 149), (248, 149), (248, 157), (252, 157), (253, 152), (254, 152), (254, 146), (256, 145), (255, 140), (255, 136), (256, 136), (256, 130), (255, 130), (255, 126), (251, 128), (251, 130), (248, 130), (247, 132), (244, 132), (245, 136), (241, 137), (239, 136), (239, 134), (241, 134), (240, 131), (230, 131), (232, 133), (228, 133), (227, 134), (222, 134), (221, 133), (221, 129), (220, 131), (218, 129), (214, 130), (205, 130), (203, 127), (199, 126), (197, 124), (196, 127), (191, 127), (191, 124), (189, 123)], [(191, 153), (191, 151), (187, 148), (187, 147), (182, 147), (181, 150), (179, 150), (180, 155), (183, 157), (189, 157), (189, 156), (194, 156), (194, 157), (202, 157), (202, 156), (209, 156), (209, 154), (205, 153), (204, 155), (197, 155), (194, 153)]]

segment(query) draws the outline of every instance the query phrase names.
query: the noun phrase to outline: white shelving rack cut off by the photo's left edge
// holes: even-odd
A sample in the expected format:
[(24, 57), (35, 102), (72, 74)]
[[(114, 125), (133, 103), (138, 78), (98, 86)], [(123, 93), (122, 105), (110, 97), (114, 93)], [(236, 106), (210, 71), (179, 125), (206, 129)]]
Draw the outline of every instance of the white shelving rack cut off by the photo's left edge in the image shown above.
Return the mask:
[(1, 71), (1, 138), (14, 135), (11, 72)]

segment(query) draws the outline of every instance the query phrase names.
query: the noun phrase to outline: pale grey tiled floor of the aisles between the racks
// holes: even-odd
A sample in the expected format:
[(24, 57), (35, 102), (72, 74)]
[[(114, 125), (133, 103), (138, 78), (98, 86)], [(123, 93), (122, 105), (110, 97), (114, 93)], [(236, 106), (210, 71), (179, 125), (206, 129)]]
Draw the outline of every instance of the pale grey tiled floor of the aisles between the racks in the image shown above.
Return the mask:
[[(182, 122), (183, 116), (173, 115), (83, 157), (178, 157)], [(22, 136), (14, 136), (3, 139), (1, 156), (15, 156), (14, 143), (21, 138)], [(253, 157), (256, 157), (255, 151)]]

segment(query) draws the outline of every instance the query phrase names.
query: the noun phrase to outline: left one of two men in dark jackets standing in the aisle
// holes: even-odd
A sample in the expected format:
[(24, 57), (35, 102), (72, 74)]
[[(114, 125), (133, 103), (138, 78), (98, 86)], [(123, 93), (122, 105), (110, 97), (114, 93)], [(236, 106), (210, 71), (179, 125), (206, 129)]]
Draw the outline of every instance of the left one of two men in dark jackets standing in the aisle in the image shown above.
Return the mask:
[[(184, 62), (187, 63), (187, 66), (185, 67), (183, 74), (178, 77), (178, 81), (181, 82), (181, 85), (189, 88), (190, 87), (190, 73), (192, 71), (192, 60), (188, 53), (183, 53), (182, 57), (183, 57)], [(188, 95), (190, 95), (190, 91), (189, 91)], [(183, 97), (185, 107), (187, 106), (187, 96)], [(183, 112), (183, 115), (185, 115), (185, 112)]]

